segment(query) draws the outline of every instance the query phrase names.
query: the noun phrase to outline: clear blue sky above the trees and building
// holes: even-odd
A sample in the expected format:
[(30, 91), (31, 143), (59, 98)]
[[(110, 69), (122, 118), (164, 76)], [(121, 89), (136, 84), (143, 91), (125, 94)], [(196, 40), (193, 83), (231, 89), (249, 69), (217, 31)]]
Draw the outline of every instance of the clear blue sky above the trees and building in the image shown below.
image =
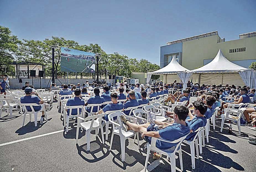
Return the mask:
[(168, 41), (216, 30), (229, 41), (255, 31), (255, 9), (255, 0), (0, 0), (0, 25), (19, 39), (65, 37), (159, 65), (160, 46)]

